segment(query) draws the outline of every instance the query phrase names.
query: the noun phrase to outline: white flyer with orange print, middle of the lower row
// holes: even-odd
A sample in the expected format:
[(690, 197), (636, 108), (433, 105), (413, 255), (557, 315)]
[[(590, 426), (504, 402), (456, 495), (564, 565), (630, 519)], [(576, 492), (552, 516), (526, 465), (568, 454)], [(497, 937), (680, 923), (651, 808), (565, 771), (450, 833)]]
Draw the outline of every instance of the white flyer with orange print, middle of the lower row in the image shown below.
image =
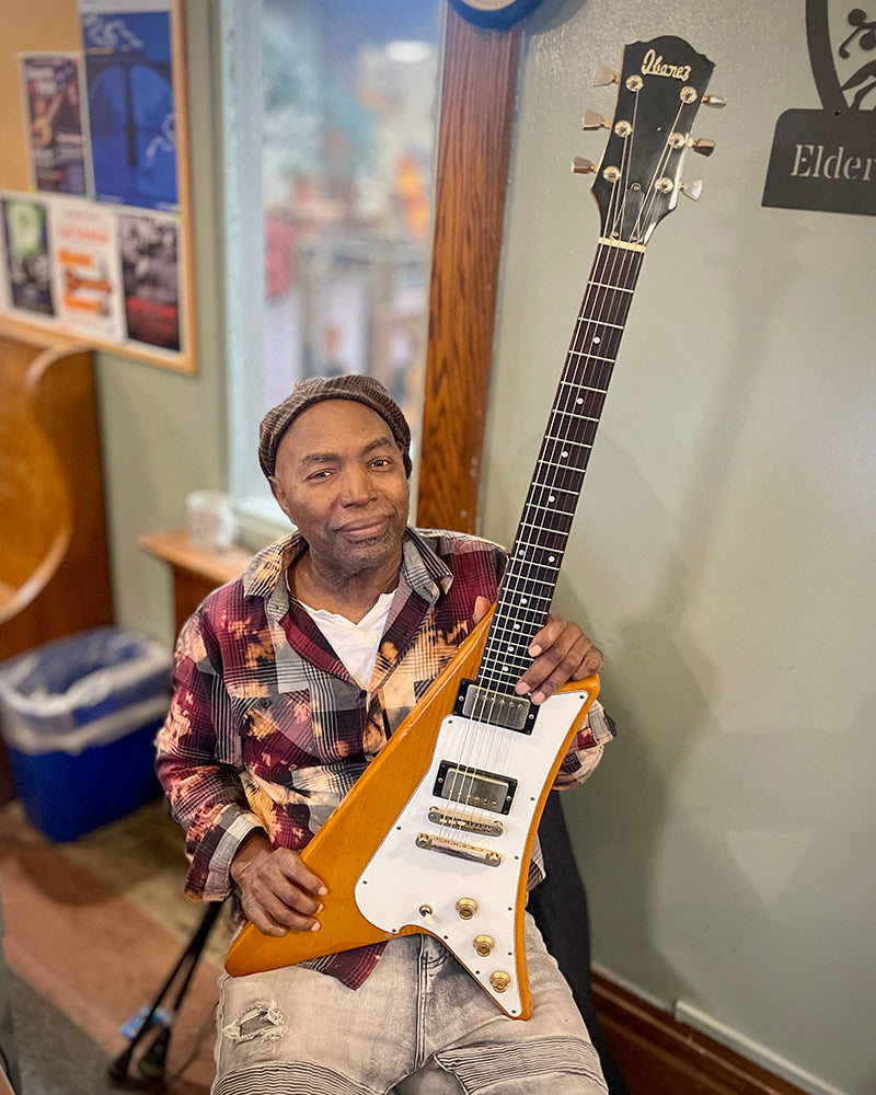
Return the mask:
[(61, 325), (114, 341), (124, 335), (116, 221), (101, 206), (62, 199), (53, 205), (58, 319)]

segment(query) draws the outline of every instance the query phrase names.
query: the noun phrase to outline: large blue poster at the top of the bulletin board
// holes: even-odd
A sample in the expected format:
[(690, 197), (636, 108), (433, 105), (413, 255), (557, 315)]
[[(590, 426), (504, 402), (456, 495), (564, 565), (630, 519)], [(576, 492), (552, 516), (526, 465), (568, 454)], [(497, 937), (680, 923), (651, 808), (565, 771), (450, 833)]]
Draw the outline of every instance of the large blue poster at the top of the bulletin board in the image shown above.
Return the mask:
[(99, 200), (175, 211), (170, 0), (80, 0)]

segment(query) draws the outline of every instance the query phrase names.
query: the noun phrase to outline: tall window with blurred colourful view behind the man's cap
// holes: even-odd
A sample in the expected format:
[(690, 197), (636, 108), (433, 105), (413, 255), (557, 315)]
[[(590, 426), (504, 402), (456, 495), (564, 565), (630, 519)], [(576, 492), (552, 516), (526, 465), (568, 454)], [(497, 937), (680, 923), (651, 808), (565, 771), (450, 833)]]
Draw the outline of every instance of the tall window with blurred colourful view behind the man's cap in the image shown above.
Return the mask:
[(295, 382), (377, 377), (416, 447), (439, 0), (222, 0), (230, 488), (280, 514), (258, 423)]

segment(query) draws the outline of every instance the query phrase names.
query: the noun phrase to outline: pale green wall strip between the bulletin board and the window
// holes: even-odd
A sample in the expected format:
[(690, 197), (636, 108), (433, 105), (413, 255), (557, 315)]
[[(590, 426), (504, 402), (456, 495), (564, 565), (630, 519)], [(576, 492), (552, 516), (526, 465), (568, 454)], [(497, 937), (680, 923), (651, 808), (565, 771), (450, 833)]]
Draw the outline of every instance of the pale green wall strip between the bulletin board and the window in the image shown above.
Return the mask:
[(198, 374), (180, 376), (99, 355), (113, 590), (119, 625), (173, 641), (169, 568), (137, 539), (185, 521), (185, 496), (221, 487), (224, 461), (224, 316), (218, 59), (208, 0), (186, 3)]

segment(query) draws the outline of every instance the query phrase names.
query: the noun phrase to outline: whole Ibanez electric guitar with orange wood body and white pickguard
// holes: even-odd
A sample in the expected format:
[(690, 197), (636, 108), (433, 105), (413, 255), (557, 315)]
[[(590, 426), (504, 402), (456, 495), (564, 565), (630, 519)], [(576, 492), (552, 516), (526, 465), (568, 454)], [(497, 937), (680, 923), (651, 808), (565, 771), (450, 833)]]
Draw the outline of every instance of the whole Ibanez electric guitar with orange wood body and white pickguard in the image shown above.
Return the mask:
[(531, 1013), (523, 953), (530, 854), (596, 677), (539, 706), (515, 684), (544, 624), (646, 243), (677, 204), (713, 64), (681, 38), (629, 45), (613, 123), (593, 172), (597, 255), (496, 606), (301, 852), (328, 897), (319, 932), (246, 925), (226, 960), (244, 975), (400, 935), (441, 940), (507, 1015)]

